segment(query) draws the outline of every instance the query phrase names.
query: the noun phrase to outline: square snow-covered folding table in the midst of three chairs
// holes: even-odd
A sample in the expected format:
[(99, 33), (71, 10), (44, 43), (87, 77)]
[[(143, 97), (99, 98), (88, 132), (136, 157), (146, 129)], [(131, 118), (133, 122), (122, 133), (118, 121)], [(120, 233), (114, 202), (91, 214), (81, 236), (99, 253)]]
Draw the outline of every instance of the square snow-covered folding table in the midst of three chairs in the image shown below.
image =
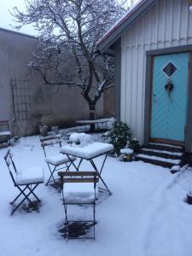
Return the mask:
[[(71, 164), (74, 166), (76, 171), (79, 171), (79, 167), (81, 166), (83, 160), (90, 161), (90, 165), (93, 166), (93, 169), (98, 173), (99, 177), (102, 180), (102, 183), (107, 190), (109, 195), (112, 195), (111, 191), (108, 189), (107, 184), (104, 182), (102, 178), (102, 169), (105, 164), (105, 161), (108, 157), (108, 153), (113, 151), (113, 145), (109, 143), (89, 143), (85, 145), (84, 147), (79, 146), (73, 146), (73, 145), (66, 145), (64, 147), (61, 147), (60, 152), (62, 154), (66, 154), (68, 159), (71, 161)], [(96, 167), (96, 164), (94, 162), (94, 159), (98, 156), (104, 155), (104, 160), (102, 162), (102, 167), (99, 170), (98, 167)], [(73, 156), (79, 158), (79, 164), (75, 165), (73, 161)]]

